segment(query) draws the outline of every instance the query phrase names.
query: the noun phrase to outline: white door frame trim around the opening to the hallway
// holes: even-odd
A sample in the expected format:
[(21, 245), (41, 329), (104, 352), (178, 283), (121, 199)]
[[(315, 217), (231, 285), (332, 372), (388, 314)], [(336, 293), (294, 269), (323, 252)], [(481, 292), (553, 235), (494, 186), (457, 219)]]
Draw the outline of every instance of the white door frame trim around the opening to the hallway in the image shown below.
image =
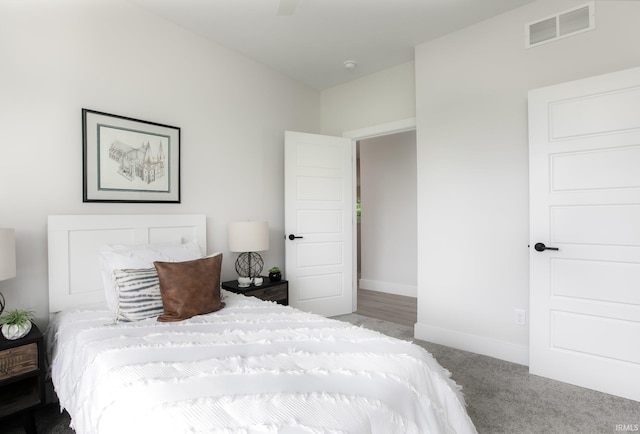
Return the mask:
[(413, 131), (413, 130), (417, 130), (417, 122), (416, 122), (416, 118), (406, 118), (406, 119), (401, 119), (399, 121), (394, 121), (394, 122), (388, 122), (385, 124), (379, 124), (379, 125), (374, 125), (371, 127), (366, 127), (366, 128), (360, 128), (357, 130), (350, 130), (350, 131), (345, 131), (344, 133), (342, 133), (342, 137), (351, 139), (351, 160), (352, 160), (352, 170), (351, 170), (351, 176), (352, 176), (352, 188), (353, 188), (353, 192), (352, 192), (352, 197), (353, 197), (353, 217), (351, 219), (351, 226), (352, 226), (352, 246), (353, 248), (351, 249), (352, 251), (352, 266), (351, 266), (351, 279), (352, 279), (352, 294), (351, 294), (351, 309), (353, 310), (353, 312), (355, 312), (358, 309), (358, 267), (354, 266), (355, 264), (357, 264), (357, 260), (358, 260), (358, 219), (356, 216), (356, 200), (357, 200), (357, 191), (356, 189), (358, 188), (357, 185), (357, 179), (356, 179), (356, 164), (358, 164), (358, 162), (356, 161), (356, 142), (358, 142), (359, 140), (364, 140), (364, 139), (371, 139), (374, 137), (381, 137), (381, 136), (388, 136), (391, 134), (396, 134), (396, 133), (404, 133), (405, 131)]

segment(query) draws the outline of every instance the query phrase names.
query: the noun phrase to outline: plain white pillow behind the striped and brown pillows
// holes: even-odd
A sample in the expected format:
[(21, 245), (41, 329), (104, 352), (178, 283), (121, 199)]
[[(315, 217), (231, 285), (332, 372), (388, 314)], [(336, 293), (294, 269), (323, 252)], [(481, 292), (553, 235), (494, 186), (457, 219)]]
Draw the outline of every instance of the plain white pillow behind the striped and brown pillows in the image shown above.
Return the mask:
[(202, 251), (196, 241), (185, 244), (161, 243), (126, 246), (111, 244), (98, 252), (102, 269), (102, 284), (107, 306), (116, 309), (113, 270), (153, 268), (154, 261), (183, 262), (199, 259)]

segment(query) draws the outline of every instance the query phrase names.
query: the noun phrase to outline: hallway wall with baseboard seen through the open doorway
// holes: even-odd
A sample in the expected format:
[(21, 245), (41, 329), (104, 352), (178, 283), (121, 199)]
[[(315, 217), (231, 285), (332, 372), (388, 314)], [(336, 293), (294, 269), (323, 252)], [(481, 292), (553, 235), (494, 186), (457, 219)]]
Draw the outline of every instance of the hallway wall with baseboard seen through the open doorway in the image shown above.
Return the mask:
[(416, 132), (360, 141), (360, 287), (417, 296)]

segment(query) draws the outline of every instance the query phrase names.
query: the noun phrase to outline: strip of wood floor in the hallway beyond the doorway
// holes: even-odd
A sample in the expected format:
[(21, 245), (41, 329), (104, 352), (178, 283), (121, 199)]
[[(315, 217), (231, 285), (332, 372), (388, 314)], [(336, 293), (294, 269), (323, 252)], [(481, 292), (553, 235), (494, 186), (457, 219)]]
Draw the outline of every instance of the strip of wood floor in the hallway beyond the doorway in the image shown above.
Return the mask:
[(418, 321), (418, 301), (414, 297), (360, 288), (355, 313), (413, 327)]

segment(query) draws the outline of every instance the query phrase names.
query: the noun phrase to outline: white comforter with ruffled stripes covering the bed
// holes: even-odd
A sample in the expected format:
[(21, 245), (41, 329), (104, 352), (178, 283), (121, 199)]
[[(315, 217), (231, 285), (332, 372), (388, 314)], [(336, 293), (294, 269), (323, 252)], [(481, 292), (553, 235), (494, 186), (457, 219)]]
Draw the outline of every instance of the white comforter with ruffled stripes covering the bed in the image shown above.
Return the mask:
[(179, 323), (52, 321), (52, 379), (78, 434), (475, 433), (455, 383), (409, 342), (223, 291)]

